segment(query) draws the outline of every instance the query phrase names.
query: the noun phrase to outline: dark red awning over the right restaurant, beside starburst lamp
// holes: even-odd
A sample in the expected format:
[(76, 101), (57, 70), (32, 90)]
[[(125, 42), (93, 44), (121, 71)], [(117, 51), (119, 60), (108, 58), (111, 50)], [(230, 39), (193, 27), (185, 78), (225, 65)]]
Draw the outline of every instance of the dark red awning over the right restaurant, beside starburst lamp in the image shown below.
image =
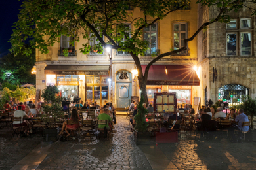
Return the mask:
[[(146, 65), (141, 67), (144, 75)], [(191, 65), (152, 65), (148, 72), (147, 85), (199, 86), (200, 80)]]

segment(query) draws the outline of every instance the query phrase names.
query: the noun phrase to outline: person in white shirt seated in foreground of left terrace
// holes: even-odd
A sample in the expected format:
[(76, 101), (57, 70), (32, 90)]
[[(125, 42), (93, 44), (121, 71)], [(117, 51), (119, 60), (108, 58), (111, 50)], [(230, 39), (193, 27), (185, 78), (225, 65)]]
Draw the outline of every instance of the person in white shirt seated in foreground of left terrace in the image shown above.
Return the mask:
[(27, 114), (25, 112), (22, 111), (22, 107), (18, 106), (18, 110), (16, 110), (14, 112), (14, 118), (21, 118), (21, 122), (20, 121), (13, 121), (13, 126), (15, 127), (20, 127), (20, 126), (24, 126), (24, 133), (26, 135), (28, 134), (28, 130), (30, 130), (30, 123), (27, 120), (24, 120), (23, 118), (28, 118)]

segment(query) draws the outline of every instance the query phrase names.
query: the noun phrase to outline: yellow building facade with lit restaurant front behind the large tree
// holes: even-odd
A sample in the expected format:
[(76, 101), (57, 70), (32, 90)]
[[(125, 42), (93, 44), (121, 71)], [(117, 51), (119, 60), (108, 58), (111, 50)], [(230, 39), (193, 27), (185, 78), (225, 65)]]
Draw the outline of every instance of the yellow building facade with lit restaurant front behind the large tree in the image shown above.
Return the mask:
[[(133, 12), (134, 18), (142, 16), (142, 12), (137, 8), (129, 12)], [(160, 54), (175, 48), (174, 42), (177, 40), (177, 34), (185, 38), (196, 32), (198, 25), (197, 12), (198, 5), (193, 0), (189, 9), (177, 10), (157, 22), (154, 28), (149, 29), (152, 35), (154, 33), (156, 35), (155, 48)], [(147, 18), (147, 20), (150, 22), (154, 18)], [(131, 30), (133, 29), (135, 27), (132, 24)], [(111, 50), (108, 53), (104, 49), (103, 54), (91, 52), (84, 55), (79, 52), (79, 48), (87, 40), (80, 39), (79, 42), (75, 42), (75, 47), (69, 53), (69, 56), (64, 57), (62, 48), (67, 43), (64, 42), (66, 38), (62, 37), (59, 43), (50, 47), (48, 54), (41, 54), (37, 51), (35, 63), (37, 89), (42, 91), (47, 85), (56, 85), (60, 88), (60, 95), (63, 97), (78, 95), (83, 101), (96, 100), (100, 105), (103, 105), (104, 101), (112, 101), (114, 107), (120, 110), (130, 105), (131, 100), (139, 97), (137, 68), (129, 54), (117, 50)], [(178, 41), (181, 43), (181, 38)], [(188, 43), (189, 50), (186, 54), (167, 56), (157, 61), (155, 65), (188, 65), (192, 69), (198, 58), (197, 43), (196, 39), (190, 41)], [(142, 65), (147, 65), (153, 59), (151, 54), (139, 56), (139, 58)], [(173, 90), (181, 93), (181, 97), (183, 97), (181, 103), (192, 103), (194, 95), (196, 96), (196, 86), (192, 86), (192, 84), (190, 86), (174, 85), (177, 86), (167, 84), (149, 85), (149, 98), (152, 99), (154, 92), (172, 92)], [(186, 99), (184, 95), (186, 95)]]

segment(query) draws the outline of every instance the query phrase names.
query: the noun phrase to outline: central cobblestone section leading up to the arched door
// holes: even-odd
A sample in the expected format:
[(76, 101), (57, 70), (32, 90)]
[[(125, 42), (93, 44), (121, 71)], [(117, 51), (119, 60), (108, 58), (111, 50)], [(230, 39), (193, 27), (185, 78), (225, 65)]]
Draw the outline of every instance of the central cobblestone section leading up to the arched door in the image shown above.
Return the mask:
[(152, 169), (125, 128), (127, 122), (125, 116), (117, 116), (112, 139), (54, 143), (37, 169)]

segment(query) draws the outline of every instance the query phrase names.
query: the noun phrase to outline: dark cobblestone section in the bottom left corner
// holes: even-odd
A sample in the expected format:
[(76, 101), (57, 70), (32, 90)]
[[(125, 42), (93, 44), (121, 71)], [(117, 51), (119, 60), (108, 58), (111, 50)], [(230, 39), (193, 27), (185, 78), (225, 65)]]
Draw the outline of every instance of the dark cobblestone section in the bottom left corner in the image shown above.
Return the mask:
[(20, 138), (11, 135), (11, 127), (0, 129), (0, 169), (11, 169), (42, 140), (40, 135)]

